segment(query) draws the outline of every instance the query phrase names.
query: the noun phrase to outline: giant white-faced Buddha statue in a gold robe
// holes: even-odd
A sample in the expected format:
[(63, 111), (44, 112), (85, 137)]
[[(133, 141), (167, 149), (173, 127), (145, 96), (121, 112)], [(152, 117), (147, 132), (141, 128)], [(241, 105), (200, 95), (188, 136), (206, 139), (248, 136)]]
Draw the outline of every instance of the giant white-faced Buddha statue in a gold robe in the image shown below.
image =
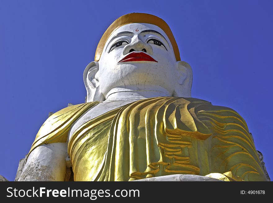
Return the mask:
[(115, 20), (83, 79), (87, 101), (45, 121), (19, 180), (64, 181), (71, 163), (74, 181), (175, 174), (266, 181), (244, 119), (191, 97), (191, 67), (159, 17)]

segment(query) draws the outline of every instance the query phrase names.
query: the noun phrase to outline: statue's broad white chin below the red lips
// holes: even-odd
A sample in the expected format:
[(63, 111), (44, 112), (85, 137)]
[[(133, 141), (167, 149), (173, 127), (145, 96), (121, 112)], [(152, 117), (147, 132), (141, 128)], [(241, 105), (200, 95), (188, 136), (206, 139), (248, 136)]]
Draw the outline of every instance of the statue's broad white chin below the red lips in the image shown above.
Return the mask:
[(158, 90), (159, 88), (173, 91), (174, 70), (166, 70), (156, 62), (115, 65), (111, 70), (102, 71), (100, 88), (103, 93), (113, 88), (133, 90)]

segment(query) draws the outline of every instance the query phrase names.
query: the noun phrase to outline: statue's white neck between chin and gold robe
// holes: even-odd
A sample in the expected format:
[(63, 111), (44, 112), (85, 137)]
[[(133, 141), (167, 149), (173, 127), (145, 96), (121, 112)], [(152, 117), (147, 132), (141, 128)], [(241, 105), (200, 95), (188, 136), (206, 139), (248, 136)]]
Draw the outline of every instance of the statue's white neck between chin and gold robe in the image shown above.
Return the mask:
[(113, 88), (105, 95), (105, 101), (140, 100), (151, 97), (166, 96), (170, 97), (172, 94), (161, 87), (151, 87), (141, 90), (137, 88)]

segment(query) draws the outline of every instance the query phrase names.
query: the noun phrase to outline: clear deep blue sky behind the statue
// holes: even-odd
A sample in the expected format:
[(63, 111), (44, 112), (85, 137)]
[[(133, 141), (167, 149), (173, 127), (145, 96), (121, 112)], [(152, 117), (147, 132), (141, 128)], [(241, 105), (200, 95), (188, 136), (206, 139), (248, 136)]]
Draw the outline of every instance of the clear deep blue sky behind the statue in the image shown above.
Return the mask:
[(105, 29), (131, 12), (161, 17), (193, 69), (192, 97), (228, 106), (272, 163), (272, 1), (13, 1), (0, 6), (0, 174), (14, 180), (50, 111), (84, 102), (83, 70)]

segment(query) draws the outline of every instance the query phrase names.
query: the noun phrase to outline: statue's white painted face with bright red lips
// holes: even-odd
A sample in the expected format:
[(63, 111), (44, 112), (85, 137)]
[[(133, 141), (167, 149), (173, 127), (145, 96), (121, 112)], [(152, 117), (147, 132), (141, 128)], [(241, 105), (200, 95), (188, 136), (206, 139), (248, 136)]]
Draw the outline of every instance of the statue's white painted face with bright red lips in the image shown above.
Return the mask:
[(153, 89), (172, 96), (177, 83), (176, 64), (171, 42), (162, 29), (132, 23), (116, 29), (108, 38), (95, 78), (104, 96), (113, 88)]

